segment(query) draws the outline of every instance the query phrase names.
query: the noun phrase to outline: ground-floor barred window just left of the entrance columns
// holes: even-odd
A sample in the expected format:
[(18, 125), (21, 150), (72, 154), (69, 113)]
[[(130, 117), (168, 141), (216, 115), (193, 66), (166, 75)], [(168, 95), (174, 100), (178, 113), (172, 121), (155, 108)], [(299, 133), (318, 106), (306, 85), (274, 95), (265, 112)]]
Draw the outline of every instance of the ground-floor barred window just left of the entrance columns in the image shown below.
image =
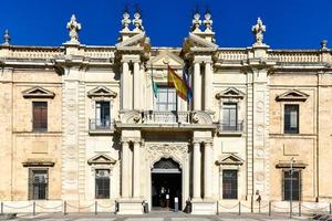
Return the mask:
[(110, 199), (110, 170), (95, 170), (95, 198)]

